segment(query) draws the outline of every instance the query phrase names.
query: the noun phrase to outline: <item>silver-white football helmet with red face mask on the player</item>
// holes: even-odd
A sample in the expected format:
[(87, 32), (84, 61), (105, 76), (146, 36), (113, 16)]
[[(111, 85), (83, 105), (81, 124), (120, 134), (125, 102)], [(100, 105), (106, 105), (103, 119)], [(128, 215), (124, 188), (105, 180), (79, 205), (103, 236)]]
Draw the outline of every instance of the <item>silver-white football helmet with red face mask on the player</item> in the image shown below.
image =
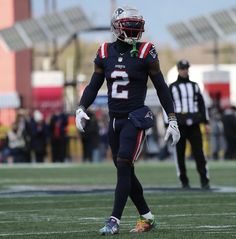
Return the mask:
[(111, 31), (119, 39), (129, 44), (141, 39), (144, 32), (143, 16), (136, 8), (119, 7), (111, 18)]

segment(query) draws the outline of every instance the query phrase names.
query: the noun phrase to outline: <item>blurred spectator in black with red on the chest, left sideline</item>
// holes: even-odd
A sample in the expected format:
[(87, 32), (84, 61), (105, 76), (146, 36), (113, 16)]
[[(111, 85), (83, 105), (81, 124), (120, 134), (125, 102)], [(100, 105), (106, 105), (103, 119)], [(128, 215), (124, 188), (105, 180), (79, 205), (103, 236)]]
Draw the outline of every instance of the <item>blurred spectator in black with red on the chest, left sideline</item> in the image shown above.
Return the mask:
[(63, 112), (52, 115), (49, 130), (53, 163), (65, 161), (67, 150), (66, 128), (67, 116)]

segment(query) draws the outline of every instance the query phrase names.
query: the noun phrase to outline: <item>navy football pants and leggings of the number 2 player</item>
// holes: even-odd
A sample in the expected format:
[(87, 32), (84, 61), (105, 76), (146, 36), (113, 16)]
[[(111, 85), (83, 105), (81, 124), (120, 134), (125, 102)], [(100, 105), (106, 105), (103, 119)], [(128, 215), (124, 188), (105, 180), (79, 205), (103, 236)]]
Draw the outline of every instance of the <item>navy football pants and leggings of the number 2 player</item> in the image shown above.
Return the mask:
[(113, 161), (117, 168), (115, 201), (111, 216), (121, 219), (128, 196), (140, 215), (150, 210), (143, 196), (143, 188), (134, 171), (133, 161), (137, 158), (144, 131), (138, 130), (127, 118), (111, 118), (109, 124), (109, 143)]

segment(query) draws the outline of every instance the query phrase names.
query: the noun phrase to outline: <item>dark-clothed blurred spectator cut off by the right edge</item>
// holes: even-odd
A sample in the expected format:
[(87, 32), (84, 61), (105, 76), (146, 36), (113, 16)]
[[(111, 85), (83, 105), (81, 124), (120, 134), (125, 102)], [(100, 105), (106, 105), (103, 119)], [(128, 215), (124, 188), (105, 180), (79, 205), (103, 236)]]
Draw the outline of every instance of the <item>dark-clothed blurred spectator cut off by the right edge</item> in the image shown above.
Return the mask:
[(222, 116), (224, 136), (226, 141), (225, 159), (236, 157), (236, 116), (235, 107), (225, 109)]

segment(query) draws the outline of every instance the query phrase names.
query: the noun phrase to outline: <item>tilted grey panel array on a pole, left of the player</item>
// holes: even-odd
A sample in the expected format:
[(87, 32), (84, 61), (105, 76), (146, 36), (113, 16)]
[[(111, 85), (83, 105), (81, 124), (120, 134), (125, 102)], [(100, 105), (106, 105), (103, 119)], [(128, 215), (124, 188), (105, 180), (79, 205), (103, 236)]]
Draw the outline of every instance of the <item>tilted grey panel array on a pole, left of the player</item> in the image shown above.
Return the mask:
[[(49, 3), (52, 2), (45, 0), (44, 3), (45, 10), (49, 11)], [(55, 0), (53, 1), (53, 8), (54, 10), (56, 9)], [(52, 47), (52, 54), (49, 54), (49, 49), (47, 49), (42, 55), (50, 56), (51, 67), (55, 69), (57, 68), (59, 54), (61, 54), (68, 45), (74, 42), (75, 52), (73, 57), (73, 68), (75, 72), (73, 73), (73, 79), (69, 80), (69, 82), (66, 83), (66, 86), (71, 86), (74, 87), (74, 89), (77, 89), (75, 74), (77, 74), (77, 70), (79, 71), (80, 66), (78, 34), (81, 32), (101, 32), (108, 30), (110, 31), (110, 26), (94, 27), (83, 10), (77, 6), (65, 9), (61, 12), (50, 12), (39, 18), (20, 21), (11, 27), (1, 29), (0, 40), (5, 44), (8, 50), (16, 52), (34, 48), (39, 43), (43, 43), (44, 46), (49, 48), (49, 43), (53, 43), (55, 39), (69, 36), (69, 39), (65, 44), (60, 44), (60, 47), (56, 46), (56, 49)]]

